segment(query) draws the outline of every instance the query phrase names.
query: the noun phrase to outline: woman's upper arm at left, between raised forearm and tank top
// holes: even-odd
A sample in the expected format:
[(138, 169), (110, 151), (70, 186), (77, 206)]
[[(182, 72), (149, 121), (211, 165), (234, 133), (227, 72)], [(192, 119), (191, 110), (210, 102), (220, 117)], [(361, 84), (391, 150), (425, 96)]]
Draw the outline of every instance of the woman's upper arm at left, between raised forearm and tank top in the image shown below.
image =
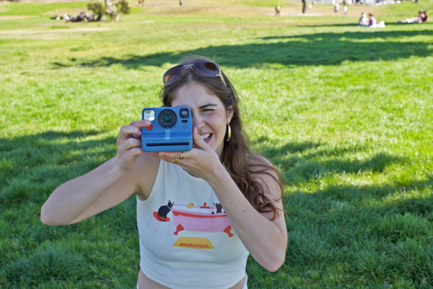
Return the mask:
[(126, 173), (117, 183), (107, 189), (84, 212), (66, 225), (74, 224), (90, 218), (100, 212), (119, 205), (136, 193), (140, 199), (149, 196), (156, 174), (158, 173), (159, 159), (149, 154), (142, 154), (136, 159), (134, 169)]

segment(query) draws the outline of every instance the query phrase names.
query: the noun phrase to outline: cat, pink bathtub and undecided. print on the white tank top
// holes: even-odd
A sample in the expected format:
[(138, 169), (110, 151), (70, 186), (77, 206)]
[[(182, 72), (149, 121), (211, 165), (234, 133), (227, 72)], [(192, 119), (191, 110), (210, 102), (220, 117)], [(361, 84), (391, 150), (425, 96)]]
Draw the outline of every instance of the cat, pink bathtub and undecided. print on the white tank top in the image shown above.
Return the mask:
[[(173, 214), (172, 222), (176, 227), (176, 231), (174, 231), (174, 235), (178, 235), (183, 230), (188, 231), (200, 231), (200, 232), (224, 232), (228, 235), (228, 237), (232, 237), (233, 234), (230, 232), (232, 228), (232, 224), (230, 223), (229, 218), (226, 215), (226, 212), (223, 211), (223, 206), (221, 203), (213, 203), (215, 207), (208, 206), (206, 202), (203, 203), (203, 206), (194, 206), (194, 203), (190, 202), (188, 205), (174, 205), (171, 200), (168, 201), (166, 206), (161, 206), (158, 209), (158, 212), (153, 212), (153, 217), (158, 221), (158, 224), (155, 227), (155, 234), (157, 233), (158, 226), (161, 222), (168, 222), (167, 236), (170, 230), (171, 222), (170, 218), (167, 217), (167, 214), (171, 212)], [(152, 216), (149, 219), (148, 226), (152, 221)], [(189, 237), (193, 238), (193, 237)], [(175, 244), (184, 244), (186, 241), (176, 241)], [(196, 240), (198, 241), (198, 240)], [(191, 246), (195, 244), (194, 242), (189, 242)], [(197, 243), (197, 242), (196, 242)], [(198, 242), (197, 244), (208, 244), (206, 242)], [(209, 242), (210, 244), (210, 242)], [(210, 244), (212, 246), (212, 244)], [(182, 246), (179, 246), (182, 247)], [(184, 246), (186, 247), (186, 246)], [(194, 246), (193, 246), (194, 247)], [(199, 246), (200, 247), (200, 246)], [(197, 248), (197, 246), (196, 246)], [(201, 247), (206, 248), (206, 247)], [(213, 248), (213, 247), (212, 247)]]

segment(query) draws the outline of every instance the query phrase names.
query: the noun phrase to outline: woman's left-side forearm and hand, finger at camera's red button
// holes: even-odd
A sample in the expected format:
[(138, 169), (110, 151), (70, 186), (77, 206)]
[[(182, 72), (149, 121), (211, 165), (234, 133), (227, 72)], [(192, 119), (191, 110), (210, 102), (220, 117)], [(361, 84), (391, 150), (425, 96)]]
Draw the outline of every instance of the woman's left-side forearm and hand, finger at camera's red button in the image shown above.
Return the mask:
[(137, 121), (122, 126), (117, 138), (116, 157), (55, 189), (42, 206), (42, 223), (68, 225), (80, 222), (137, 193), (137, 170), (133, 169), (136, 158), (143, 154), (139, 128), (146, 125), (145, 121)]

